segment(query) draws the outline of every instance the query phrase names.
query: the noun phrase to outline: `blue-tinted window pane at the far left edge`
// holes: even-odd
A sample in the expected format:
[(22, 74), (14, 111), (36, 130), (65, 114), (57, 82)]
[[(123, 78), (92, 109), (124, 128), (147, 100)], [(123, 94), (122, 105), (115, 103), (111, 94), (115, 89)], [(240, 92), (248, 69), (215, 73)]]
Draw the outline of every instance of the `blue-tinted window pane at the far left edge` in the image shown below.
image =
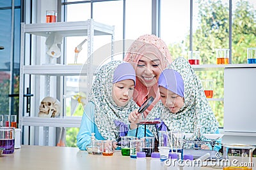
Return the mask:
[(3, 115), (18, 115), (20, 1), (12, 4), (12, 1), (0, 0), (0, 20), (0, 46), (4, 47), (0, 50), (0, 110)]

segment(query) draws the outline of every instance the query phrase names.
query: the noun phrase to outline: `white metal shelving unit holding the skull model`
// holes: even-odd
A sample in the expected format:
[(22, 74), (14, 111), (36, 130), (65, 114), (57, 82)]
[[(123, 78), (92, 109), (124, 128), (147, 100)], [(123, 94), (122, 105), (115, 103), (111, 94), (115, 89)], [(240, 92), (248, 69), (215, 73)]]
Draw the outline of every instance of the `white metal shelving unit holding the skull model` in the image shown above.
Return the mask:
[[(50, 60), (46, 54), (45, 39), (49, 34), (58, 33), (63, 36), (59, 46), (61, 57)], [(55, 22), (43, 24), (21, 24), (20, 34), (20, 101), (19, 128), (24, 126), (37, 127), (79, 127), (81, 117), (66, 115), (65, 96), (67, 94), (67, 77), (84, 76), (83, 92), (88, 96), (93, 73), (93, 37), (108, 36), (109, 43), (114, 41), (114, 26), (100, 24), (92, 19), (82, 22)], [(88, 39), (88, 59), (86, 64), (67, 64), (65, 43), (68, 37)], [(76, 42), (77, 45), (79, 42)], [(83, 48), (86, 44), (84, 44)], [(113, 52), (113, 49), (110, 49)], [(72, 53), (74, 56), (74, 53)], [(68, 56), (70, 57), (70, 56)], [(98, 57), (98, 56), (97, 56)], [(73, 78), (74, 79), (74, 78)], [(77, 82), (76, 82), (77, 83)], [(28, 97), (24, 95), (33, 94)], [(28, 96), (28, 95), (27, 95)], [(56, 97), (62, 105), (60, 118), (39, 118), (40, 101), (46, 96)]]

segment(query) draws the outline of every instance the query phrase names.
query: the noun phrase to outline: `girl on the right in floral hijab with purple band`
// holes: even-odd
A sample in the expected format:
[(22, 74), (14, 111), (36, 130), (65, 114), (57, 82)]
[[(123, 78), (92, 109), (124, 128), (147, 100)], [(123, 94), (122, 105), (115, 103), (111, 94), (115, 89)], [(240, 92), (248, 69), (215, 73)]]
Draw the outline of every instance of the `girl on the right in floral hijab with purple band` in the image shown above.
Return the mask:
[[(175, 59), (159, 76), (158, 85), (161, 102), (156, 104), (149, 118), (162, 120), (160, 130), (193, 133), (200, 126), (203, 134), (220, 133), (202, 83), (188, 60)], [(156, 129), (148, 128), (156, 136)], [(220, 147), (215, 145), (214, 150)]]

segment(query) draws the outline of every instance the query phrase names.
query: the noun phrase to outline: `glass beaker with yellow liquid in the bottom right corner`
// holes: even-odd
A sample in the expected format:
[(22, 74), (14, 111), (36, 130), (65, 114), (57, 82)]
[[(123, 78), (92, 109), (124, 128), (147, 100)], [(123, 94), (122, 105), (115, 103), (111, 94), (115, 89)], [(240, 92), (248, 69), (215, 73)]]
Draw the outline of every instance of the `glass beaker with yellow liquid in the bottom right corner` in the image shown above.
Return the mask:
[(223, 169), (252, 169), (252, 153), (254, 149), (255, 146), (252, 145), (223, 145), (223, 159), (226, 162), (226, 165), (223, 165)]

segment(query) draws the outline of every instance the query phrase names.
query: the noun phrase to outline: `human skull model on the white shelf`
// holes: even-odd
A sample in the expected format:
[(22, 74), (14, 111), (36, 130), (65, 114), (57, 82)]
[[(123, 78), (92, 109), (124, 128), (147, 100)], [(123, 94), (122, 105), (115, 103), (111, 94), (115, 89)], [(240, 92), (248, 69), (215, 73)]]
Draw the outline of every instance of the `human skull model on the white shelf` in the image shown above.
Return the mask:
[(40, 104), (38, 117), (59, 117), (60, 101), (54, 97), (45, 97)]

